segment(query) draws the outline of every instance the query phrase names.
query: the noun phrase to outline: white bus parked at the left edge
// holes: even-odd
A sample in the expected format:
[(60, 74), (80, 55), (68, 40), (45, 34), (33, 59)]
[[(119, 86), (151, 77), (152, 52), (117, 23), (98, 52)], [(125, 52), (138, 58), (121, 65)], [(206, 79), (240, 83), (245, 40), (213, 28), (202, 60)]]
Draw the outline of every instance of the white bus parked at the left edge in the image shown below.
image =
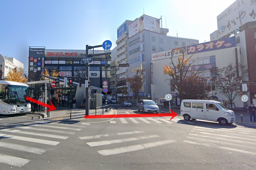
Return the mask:
[(26, 100), (27, 96), (31, 96), (27, 84), (0, 80), (0, 114), (30, 112), (31, 104), (30, 101)]

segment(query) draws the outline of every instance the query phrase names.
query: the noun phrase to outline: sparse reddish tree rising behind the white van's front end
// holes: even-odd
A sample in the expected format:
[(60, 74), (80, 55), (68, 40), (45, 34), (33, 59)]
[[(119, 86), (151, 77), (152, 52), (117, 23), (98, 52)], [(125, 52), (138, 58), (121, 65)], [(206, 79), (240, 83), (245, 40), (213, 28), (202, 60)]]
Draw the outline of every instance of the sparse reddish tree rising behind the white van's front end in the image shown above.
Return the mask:
[[(211, 70), (211, 73), (216, 74), (217, 89), (228, 98), (231, 109), (233, 109), (233, 103), (236, 97), (244, 93), (236, 92), (236, 88), (237, 86), (241, 86), (243, 77), (247, 76), (248, 70), (241, 64), (237, 64), (236, 66), (228, 65), (222, 68), (215, 67)], [(224, 93), (225, 87), (228, 87), (227, 93)]]

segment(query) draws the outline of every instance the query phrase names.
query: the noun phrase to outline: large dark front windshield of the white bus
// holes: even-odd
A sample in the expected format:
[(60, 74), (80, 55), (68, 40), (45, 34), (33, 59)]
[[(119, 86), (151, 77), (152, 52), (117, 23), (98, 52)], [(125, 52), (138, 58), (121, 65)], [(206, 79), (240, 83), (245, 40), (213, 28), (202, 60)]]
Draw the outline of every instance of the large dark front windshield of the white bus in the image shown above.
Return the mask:
[(7, 101), (9, 98), (10, 104), (30, 103), (28, 100), (26, 100), (26, 97), (29, 96), (28, 88), (28, 86), (8, 85), (9, 95), (6, 95)]

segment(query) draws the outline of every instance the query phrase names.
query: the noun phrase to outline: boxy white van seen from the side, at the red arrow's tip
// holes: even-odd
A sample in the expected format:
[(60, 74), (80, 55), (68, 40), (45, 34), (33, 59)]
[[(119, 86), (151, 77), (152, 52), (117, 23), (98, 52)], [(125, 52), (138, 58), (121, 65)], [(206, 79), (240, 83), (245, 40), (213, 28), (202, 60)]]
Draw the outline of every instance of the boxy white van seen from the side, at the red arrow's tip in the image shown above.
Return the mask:
[(182, 100), (180, 116), (184, 117), (185, 120), (208, 120), (224, 125), (236, 121), (234, 111), (214, 100)]

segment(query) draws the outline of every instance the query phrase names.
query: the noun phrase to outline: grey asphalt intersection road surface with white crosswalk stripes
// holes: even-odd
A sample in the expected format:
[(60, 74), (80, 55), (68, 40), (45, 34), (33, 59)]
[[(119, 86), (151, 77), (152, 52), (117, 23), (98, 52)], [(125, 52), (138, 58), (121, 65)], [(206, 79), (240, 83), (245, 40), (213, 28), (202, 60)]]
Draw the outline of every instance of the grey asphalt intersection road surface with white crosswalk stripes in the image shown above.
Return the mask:
[(0, 115), (0, 169), (256, 169), (256, 129), (169, 119)]

